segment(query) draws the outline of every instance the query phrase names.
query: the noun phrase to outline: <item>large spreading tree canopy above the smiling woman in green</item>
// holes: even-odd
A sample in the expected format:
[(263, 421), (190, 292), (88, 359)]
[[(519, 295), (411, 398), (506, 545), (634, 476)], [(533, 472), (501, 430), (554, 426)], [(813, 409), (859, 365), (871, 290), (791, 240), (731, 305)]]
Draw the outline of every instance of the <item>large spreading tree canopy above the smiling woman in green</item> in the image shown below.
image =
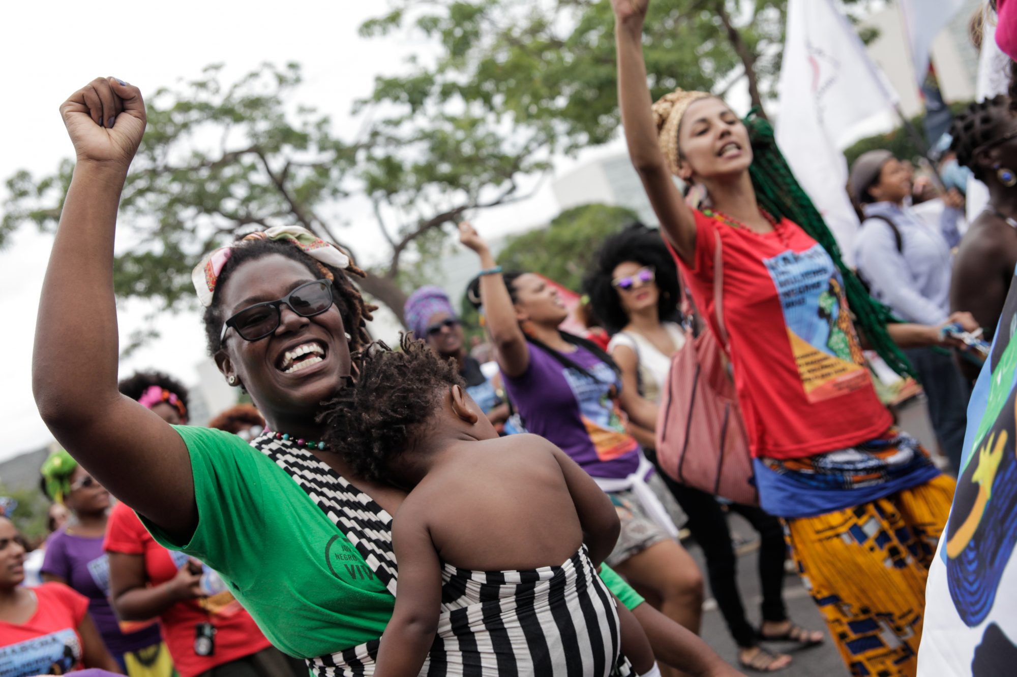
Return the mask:
[[(678, 85), (723, 95), (745, 73), (769, 93), (786, 2), (655, 0), (644, 41), (653, 96)], [(402, 317), (403, 290), (426, 276), (464, 212), (524, 199), (522, 177), (616, 132), (606, 0), (391, 0), (361, 26), (368, 38), (409, 33), (435, 53), (375, 79), (354, 107), (371, 109), (358, 138), (295, 105), (295, 63), (262, 64), (235, 82), (213, 65), (148, 96), (148, 128), (121, 203), (117, 294), (164, 309), (190, 305), (199, 257), (256, 228), (301, 225), (353, 250), (338, 237), (348, 224), (325, 214), (358, 194), (374, 205), (387, 256), (361, 287)], [(22, 224), (55, 228), (71, 170), (65, 161), (53, 175), (7, 180), (0, 247)]]

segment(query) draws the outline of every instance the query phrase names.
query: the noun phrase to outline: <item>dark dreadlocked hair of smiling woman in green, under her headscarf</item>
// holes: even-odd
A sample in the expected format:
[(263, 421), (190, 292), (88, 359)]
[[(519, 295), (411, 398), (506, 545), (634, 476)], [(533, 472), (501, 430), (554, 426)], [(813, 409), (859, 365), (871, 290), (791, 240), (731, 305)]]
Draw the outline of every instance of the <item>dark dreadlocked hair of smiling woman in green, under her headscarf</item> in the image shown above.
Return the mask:
[(223, 330), (223, 323), (228, 319), (224, 316), (222, 308), (222, 291), (230, 275), (242, 263), (253, 261), (264, 256), (278, 254), (302, 263), (315, 278), (325, 278), (332, 281), (333, 298), (339, 308), (343, 318), (343, 326), (350, 333), (350, 351), (360, 350), (370, 343), (370, 335), (367, 333), (367, 321), (373, 319), (371, 313), (377, 310), (377, 306), (364, 301), (360, 291), (354, 286), (348, 273), (358, 278), (366, 278), (367, 274), (353, 263), (350, 263), (346, 270), (331, 265), (325, 265), (320, 261), (306, 254), (300, 247), (288, 240), (244, 240), (235, 243), (230, 258), (226, 261), (219, 280), (216, 284), (216, 291), (212, 296), (212, 304), (204, 309), (204, 336), (208, 346), (208, 355), (215, 355), (223, 348), (220, 338)]

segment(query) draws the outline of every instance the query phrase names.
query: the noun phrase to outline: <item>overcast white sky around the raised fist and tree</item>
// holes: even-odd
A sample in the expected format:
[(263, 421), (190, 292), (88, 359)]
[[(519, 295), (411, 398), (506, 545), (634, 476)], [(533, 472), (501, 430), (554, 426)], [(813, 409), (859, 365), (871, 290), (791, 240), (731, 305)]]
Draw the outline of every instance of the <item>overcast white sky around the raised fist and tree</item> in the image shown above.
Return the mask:
[[(360, 23), (385, 6), (382, 0), (5, 3), (0, 10), (0, 63), (7, 67), (8, 84), (0, 107), (0, 179), (21, 168), (50, 172), (69, 157), (58, 107), (73, 90), (105, 75), (151, 93), (195, 77), (210, 63), (226, 63), (229, 78), (263, 61), (298, 61), (305, 75), (301, 103), (330, 113), (341, 130), (352, 135), (359, 123), (348, 117), (350, 104), (370, 93), (375, 74), (398, 71), (409, 51), (425, 48), (419, 36), (366, 41), (357, 36)], [(615, 144), (613, 150), (600, 148), (590, 155), (617, 149)], [(563, 160), (559, 171), (574, 165)], [(556, 212), (545, 187), (525, 204), (476, 221), (482, 230), (497, 234), (546, 223)], [(356, 223), (369, 216), (350, 218)], [(365, 224), (363, 232), (372, 233), (372, 228)], [(0, 363), (0, 459), (51, 439), (31, 390), (36, 308), (51, 242), (24, 229), (0, 250), (0, 311), (8, 327), (0, 338), (7, 356)], [(122, 308), (122, 338), (142, 324), (146, 310), (143, 304)], [(122, 364), (121, 373), (158, 367), (194, 382), (194, 367), (204, 358), (196, 315), (161, 317), (158, 328), (163, 337)]]

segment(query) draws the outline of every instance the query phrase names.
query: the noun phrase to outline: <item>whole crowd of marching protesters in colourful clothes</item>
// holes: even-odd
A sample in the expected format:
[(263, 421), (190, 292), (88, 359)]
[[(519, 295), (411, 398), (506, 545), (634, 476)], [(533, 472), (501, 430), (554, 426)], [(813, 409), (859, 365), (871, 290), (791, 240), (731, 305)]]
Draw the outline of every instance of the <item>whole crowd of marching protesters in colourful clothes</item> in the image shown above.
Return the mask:
[[(0, 673), (733, 677), (824, 642), (859, 676), (1012, 667), (1017, 107), (957, 116), (938, 190), (908, 159), (859, 157), (852, 268), (765, 119), (704, 91), (652, 101), (648, 4), (611, 0), (624, 139), (660, 227), (598, 243), (581, 309), (463, 223), (480, 326), (468, 342), (425, 286), (393, 350), (347, 252), (254, 232), (192, 274), (208, 354), (251, 403), (208, 427), (176, 379), (117, 380), (140, 90), (99, 78), (64, 103), (78, 163), (34, 373), (61, 448), (41, 469), (46, 541), (0, 516)], [(990, 5), (1013, 57), (1017, 2)], [(990, 201), (968, 226), (969, 178)], [(597, 331), (563, 330), (575, 312)], [(873, 363), (920, 383), (938, 448), (898, 427)], [(732, 513), (759, 534), (757, 625)], [(698, 636), (681, 529), (737, 669)], [(788, 556), (825, 632), (788, 615)]]

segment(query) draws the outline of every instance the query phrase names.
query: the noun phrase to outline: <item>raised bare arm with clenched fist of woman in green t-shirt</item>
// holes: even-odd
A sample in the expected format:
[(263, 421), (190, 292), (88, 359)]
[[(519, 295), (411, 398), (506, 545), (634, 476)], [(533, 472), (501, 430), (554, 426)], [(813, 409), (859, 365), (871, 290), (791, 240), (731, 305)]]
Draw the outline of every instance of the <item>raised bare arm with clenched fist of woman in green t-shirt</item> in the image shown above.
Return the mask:
[(117, 390), (113, 240), (120, 191), (144, 133), (137, 87), (99, 78), (60, 107), (77, 164), (36, 322), (33, 391), (57, 440), (115, 496), (172, 535), (197, 524), (183, 440)]

